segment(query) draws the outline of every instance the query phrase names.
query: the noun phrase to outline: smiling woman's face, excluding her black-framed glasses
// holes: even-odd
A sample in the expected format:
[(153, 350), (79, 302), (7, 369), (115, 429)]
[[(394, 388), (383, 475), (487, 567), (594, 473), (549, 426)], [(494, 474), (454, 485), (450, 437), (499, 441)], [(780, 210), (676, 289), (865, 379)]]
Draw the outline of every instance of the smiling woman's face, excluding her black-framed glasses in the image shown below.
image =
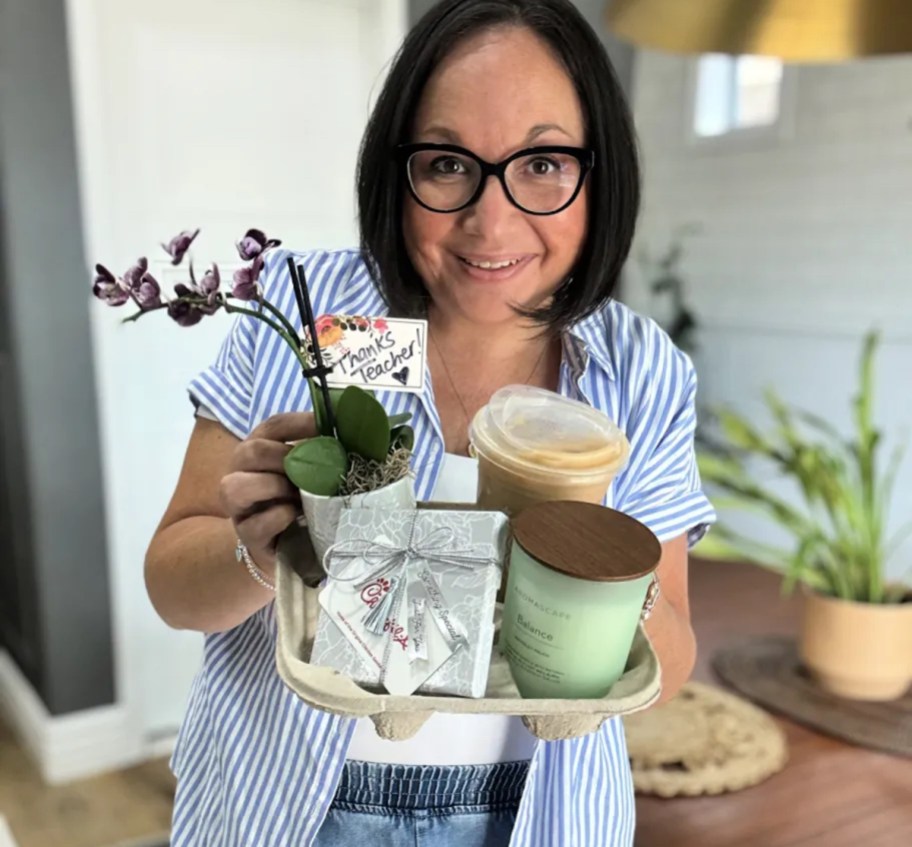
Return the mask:
[[(444, 59), (422, 94), (412, 141), (459, 145), (488, 162), (527, 147), (586, 143), (570, 77), (545, 42), (518, 28), (482, 33)], [(586, 192), (584, 185), (568, 208), (545, 216), (514, 206), (496, 178), (478, 202), (451, 214), (406, 192), (405, 244), (434, 308), (497, 324), (515, 321), (515, 306), (543, 305), (582, 249)]]

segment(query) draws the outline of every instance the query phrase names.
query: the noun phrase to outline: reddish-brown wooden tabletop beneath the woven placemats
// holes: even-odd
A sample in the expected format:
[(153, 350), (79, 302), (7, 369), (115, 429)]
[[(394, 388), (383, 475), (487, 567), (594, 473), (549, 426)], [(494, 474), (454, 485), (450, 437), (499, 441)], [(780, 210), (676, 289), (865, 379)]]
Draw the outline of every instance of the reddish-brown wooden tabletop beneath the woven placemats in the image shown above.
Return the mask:
[[(798, 602), (745, 565), (694, 561), (694, 678), (719, 684), (713, 650), (743, 635), (793, 633)], [(790, 761), (719, 797), (637, 801), (636, 847), (912, 847), (912, 760), (852, 747), (782, 720)]]

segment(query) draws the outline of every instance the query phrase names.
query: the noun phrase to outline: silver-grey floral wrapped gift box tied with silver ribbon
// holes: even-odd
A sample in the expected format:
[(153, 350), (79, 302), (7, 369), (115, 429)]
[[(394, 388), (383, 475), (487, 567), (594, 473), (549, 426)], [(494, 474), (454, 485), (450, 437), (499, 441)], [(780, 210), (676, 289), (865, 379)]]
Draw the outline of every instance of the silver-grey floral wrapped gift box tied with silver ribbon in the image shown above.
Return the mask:
[(484, 696), (508, 532), (501, 512), (343, 511), (311, 663), (391, 694)]

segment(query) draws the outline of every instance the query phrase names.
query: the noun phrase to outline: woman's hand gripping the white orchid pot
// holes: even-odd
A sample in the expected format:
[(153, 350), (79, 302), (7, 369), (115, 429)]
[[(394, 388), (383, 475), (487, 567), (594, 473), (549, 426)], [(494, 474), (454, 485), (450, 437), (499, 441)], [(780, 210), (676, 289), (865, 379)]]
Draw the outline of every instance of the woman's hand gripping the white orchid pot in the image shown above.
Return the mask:
[(293, 443), (316, 436), (309, 412), (267, 418), (234, 450), (230, 470), (219, 485), (219, 500), (253, 561), (270, 576), (276, 539), (301, 514), (301, 495), (285, 476), (285, 456)]

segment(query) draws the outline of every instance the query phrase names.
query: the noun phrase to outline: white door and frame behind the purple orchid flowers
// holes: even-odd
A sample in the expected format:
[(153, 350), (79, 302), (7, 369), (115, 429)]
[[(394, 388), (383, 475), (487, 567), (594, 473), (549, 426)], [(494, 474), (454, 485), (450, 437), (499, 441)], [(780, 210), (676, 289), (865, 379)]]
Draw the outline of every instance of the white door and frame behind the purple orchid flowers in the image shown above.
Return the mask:
[[(147, 254), (170, 287), (157, 245), (196, 226), (197, 267), (228, 279), (250, 226), (301, 248), (355, 243), (356, 153), (404, 2), (69, 0), (68, 15), (90, 264)], [(119, 700), (154, 736), (177, 726), (202, 638), (158, 620), (143, 557), (192, 427), (185, 386), (227, 322), (122, 326), (130, 308), (92, 317)]]

